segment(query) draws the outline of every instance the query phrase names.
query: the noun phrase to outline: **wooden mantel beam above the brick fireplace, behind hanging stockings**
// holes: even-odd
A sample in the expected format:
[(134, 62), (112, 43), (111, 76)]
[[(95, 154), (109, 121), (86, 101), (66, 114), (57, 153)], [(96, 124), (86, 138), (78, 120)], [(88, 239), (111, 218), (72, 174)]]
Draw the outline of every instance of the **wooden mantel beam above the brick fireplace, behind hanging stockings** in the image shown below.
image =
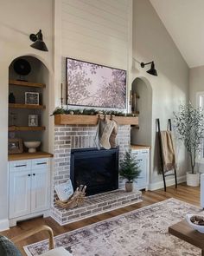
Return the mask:
[[(104, 116), (104, 115), (100, 115)], [(107, 115), (111, 118), (111, 115)], [(99, 115), (54, 115), (55, 125), (97, 125)], [(138, 125), (138, 116), (112, 116), (112, 120), (117, 121), (118, 125)]]

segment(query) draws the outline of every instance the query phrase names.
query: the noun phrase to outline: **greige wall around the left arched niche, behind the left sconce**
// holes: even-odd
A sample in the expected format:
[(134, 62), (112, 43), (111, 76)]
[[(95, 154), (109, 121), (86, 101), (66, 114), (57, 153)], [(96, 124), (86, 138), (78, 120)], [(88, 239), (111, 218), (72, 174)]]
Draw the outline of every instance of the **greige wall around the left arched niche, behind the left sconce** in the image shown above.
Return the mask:
[[(53, 69), (53, 0), (0, 0), (0, 230), (8, 225), (8, 81), (10, 62), (17, 56), (36, 56)], [(41, 29), (49, 51), (29, 47), (29, 34)], [(53, 86), (50, 84), (49, 86)], [(50, 93), (50, 97), (52, 97)], [(50, 106), (48, 106), (49, 108)]]

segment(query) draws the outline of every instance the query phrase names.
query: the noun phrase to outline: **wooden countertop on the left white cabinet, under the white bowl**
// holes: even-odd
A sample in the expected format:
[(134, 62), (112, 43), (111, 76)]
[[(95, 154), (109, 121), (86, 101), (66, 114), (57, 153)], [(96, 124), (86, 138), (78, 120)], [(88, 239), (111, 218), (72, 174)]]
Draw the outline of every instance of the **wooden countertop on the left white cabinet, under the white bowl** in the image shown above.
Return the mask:
[(8, 154), (9, 161), (35, 159), (35, 158), (48, 158), (48, 157), (53, 157), (53, 154), (42, 152), (42, 151), (38, 151), (35, 153), (23, 152), (20, 154)]

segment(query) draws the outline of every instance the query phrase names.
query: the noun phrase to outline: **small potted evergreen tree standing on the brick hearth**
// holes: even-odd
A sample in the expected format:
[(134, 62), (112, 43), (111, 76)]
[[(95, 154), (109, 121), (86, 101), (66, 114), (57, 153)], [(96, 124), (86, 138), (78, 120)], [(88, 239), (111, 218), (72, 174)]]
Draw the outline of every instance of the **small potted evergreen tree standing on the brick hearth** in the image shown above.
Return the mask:
[(133, 181), (135, 181), (141, 170), (138, 167), (137, 161), (131, 154), (131, 150), (126, 151), (124, 154), (124, 159), (120, 163), (119, 174), (121, 177), (126, 179), (125, 190), (131, 192), (133, 190)]

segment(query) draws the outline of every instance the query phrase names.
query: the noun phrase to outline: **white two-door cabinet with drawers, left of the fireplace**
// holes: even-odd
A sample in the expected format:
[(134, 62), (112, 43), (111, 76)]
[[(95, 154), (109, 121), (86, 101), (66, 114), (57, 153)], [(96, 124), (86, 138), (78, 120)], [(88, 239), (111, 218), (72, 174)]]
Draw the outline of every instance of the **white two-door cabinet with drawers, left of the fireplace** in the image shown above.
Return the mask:
[(50, 207), (50, 159), (10, 161), (10, 226)]

